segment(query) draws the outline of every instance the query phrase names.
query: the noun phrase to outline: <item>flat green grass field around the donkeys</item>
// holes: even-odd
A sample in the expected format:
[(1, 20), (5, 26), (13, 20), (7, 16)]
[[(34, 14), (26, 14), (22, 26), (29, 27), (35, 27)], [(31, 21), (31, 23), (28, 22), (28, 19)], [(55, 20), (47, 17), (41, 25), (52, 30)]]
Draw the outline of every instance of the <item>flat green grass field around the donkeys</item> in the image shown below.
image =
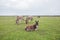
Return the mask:
[(31, 32), (24, 30), (24, 21), (16, 25), (15, 20), (16, 17), (0, 16), (0, 40), (60, 40), (60, 17), (39, 18), (38, 31)]

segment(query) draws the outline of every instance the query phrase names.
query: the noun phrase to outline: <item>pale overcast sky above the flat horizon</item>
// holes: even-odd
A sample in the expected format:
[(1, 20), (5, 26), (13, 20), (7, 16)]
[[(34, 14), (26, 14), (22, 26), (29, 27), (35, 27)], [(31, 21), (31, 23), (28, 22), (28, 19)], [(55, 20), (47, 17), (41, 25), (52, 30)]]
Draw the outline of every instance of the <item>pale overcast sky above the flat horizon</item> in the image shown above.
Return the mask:
[(0, 15), (60, 15), (60, 0), (0, 0)]

